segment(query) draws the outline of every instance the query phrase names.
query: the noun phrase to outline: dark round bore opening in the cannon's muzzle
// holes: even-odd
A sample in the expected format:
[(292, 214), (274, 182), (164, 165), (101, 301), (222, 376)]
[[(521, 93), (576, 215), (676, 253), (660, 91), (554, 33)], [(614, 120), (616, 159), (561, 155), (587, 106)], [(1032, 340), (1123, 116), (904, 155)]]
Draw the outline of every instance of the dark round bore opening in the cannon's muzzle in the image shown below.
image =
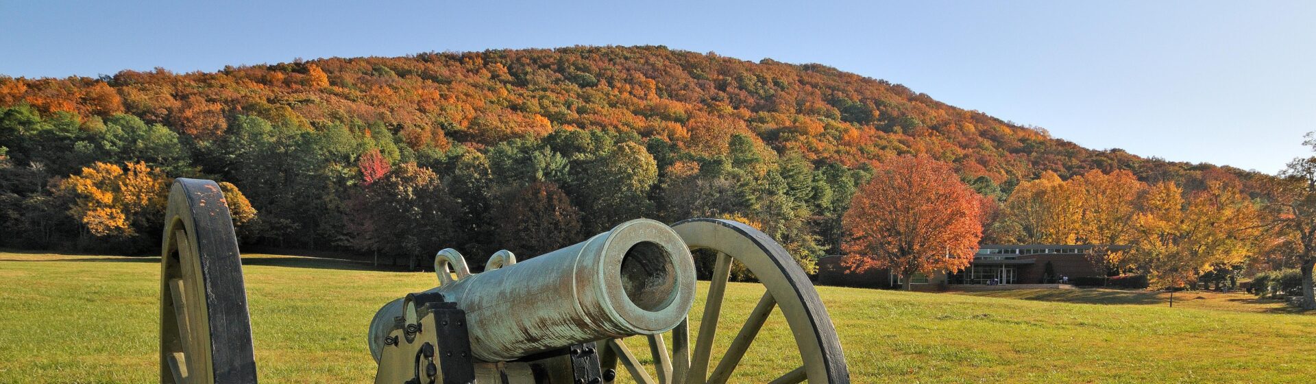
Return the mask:
[(640, 309), (658, 312), (676, 297), (676, 266), (667, 250), (638, 242), (621, 258), (621, 289)]

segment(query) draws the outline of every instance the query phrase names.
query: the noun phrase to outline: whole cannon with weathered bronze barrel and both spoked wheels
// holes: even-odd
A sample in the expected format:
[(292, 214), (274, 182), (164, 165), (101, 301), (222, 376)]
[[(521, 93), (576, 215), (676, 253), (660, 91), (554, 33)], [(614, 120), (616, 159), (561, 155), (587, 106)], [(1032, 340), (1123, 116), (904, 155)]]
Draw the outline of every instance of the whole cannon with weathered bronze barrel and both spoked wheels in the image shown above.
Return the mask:
[[(695, 281), (691, 251), (700, 249), (715, 255), (707, 284)], [(755, 289), (728, 283), (733, 266), (762, 293), (734, 317), (742, 322), (720, 322), (729, 288)], [(161, 383), (257, 383), (241, 267), (218, 185), (176, 179), (161, 254)], [(495, 252), (479, 274), (445, 249), (434, 271), (436, 287), (383, 302), (371, 320), (375, 383), (849, 383), (808, 276), (780, 245), (737, 221), (632, 220), (520, 263)], [(696, 297), (703, 308), (691, 316)], [(737, 377), (776, 314), (795, 348), (765, 354), (797, 355), (788, 359), (797, 366)]]

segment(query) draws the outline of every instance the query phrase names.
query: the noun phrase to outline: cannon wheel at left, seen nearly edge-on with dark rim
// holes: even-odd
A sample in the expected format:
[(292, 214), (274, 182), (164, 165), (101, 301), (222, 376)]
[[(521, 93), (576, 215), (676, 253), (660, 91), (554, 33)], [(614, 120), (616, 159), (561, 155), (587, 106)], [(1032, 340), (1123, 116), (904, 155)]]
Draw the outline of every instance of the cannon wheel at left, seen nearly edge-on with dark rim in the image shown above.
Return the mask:
[(161, 252), (161, 383), (255, 383), (246, 302), (224, 192), (175, 179)]

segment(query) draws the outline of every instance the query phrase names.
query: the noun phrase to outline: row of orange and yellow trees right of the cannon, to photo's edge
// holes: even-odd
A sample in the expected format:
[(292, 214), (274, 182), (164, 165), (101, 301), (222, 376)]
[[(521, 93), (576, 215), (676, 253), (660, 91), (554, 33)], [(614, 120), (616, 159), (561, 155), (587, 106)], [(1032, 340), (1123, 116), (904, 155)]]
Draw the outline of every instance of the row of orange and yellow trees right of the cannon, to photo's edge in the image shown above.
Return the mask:
[(844, 264), (890, 268), (908, 287), (916, 272), (965, 270), (983, 242), (1086, 245), (1103, 276), (1138, 274), (1162, 289), (1233, 285), (1245, 271), (1266, 284), (1277, 279), (1265, 272), (1298, 267), (1302, 305), (1316, 309), (1316, 155), (1258, 180), (1245, 188), (1208, 171), (1182, 185), (1092, 170), (1069, 180), (1046, 172), (1004, 195), (929, 156), (896, 158), (844, 216)]

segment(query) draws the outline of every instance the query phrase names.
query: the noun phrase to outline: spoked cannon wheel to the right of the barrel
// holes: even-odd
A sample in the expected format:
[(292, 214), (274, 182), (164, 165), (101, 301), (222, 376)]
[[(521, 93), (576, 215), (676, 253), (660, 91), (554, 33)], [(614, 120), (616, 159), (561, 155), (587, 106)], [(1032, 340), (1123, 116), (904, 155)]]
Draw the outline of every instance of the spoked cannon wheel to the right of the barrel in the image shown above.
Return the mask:
[[(672, 225), (691, 249), (717, 251), (712, 281), (708, 285), (704, 313), (697, 338), (691, 343), (688, 320), (672, 330), (671, 355), (662, 334), (644, 337), (653, 356), (658, 380), (626, 347), (622, 339), (608, 341), (604, 348), (604, 368), (616, 368), (620, 360), (636, 383), (726, 383), (745, 356), (763, 322), (775, 309), (780, 309), (795, 337), (795, 345), (804, 360), (801, 367), (782, 372), (771, 383), (850, 383), (841, 342), (836, 327), (813, 283), (795, 259), (767, 234), (737, 221), (691, 218)], [(740, 327), (736, 338), (716, 366), (709, 367), (712, 341), (717, 334), (722, 296), (730, 275), (732, 260), (745, 264), (767, 288), (753, 312)], [(641, 337), (636, 337), (641, 338)], [(709, 372), (712, 368), (712, 372)]]

